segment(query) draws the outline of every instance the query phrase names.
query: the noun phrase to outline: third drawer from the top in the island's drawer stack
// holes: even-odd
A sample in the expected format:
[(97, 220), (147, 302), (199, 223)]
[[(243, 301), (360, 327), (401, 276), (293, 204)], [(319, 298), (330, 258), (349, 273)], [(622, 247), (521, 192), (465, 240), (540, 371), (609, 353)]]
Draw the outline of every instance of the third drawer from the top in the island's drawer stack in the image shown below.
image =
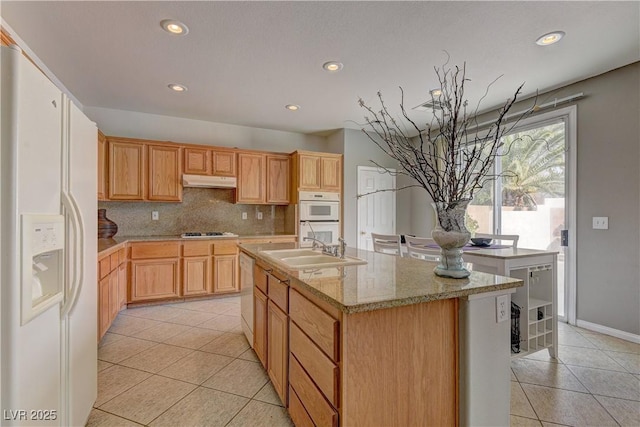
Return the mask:
[(317, 426), (337, 426), (338, 413), (327, 402), (295, 357), (289, 357), (289, 384)]

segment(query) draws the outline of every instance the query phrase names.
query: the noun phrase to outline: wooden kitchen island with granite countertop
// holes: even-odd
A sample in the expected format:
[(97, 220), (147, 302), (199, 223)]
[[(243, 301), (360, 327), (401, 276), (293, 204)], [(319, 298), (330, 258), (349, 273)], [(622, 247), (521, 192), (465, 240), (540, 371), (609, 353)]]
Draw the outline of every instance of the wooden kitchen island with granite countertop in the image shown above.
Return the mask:
[[(296, 425), (509, 423), (509, 315), (520, 279), (435, 276), (434, 263), (347, 248), (364, 265), (291, 270), (256, 260), (254, 342)], [(477, 344), (477, 343), (481, 344)], [(491, 393), (471, 394), (478, 372)], [(485, 384), (485, 386), (488, 386)]]

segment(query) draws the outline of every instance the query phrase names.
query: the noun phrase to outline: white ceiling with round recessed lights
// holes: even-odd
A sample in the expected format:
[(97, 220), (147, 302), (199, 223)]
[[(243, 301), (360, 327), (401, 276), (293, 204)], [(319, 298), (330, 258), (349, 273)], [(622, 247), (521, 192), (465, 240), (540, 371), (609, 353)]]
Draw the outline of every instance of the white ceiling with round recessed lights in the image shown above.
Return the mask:
[[(415, 107), (434, 66), (466, 62), (482, 109), (640, 60), (640, 2), (0, 2), (8, 26), (85, 106), (323, 133), (362, 97)], [(160, 21), (189, 27), (172, 36)], [(540, 47), (553, 30), (566, 37)], [(447, 53), (445, 53), (445, 51)], [(329, 74), (322, 64), (344, 63)], [(188, 86), (174, 93), (169, 83)], [(290, 112), (285, 104), (298, 104)], [(426, 122), (426, 113), (412, 112)]]

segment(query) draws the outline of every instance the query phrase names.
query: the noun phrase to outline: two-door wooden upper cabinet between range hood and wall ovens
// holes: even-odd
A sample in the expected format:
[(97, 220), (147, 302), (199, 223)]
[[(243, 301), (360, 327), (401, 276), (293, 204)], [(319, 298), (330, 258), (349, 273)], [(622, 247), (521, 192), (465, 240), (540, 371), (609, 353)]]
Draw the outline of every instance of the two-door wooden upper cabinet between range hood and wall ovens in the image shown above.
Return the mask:
[(289, 204), (289, 164), (286, 154), (238, 153), (236, 203)]

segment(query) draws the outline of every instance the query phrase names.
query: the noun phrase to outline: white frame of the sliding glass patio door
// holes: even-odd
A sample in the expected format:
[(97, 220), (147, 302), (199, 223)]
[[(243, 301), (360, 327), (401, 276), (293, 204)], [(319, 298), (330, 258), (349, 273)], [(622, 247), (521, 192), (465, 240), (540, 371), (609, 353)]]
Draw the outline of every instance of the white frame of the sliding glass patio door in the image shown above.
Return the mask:
[[(577, 165), (578, 165), (578, 138), (577, 138), (578, 107), (558, 108), (547, 113), (540, 113), (522, 120), (509, 134), (544, 125), (544, 122), (564, 120), (565, 123), (565, 229), (569, 231), (569, 245), (565, 246), (565, 286), (564, 286), (564, 316), (562, 319), (571, 325), (576, 324), (576, 252), (577, 252)], [(498, 162), (496, 162), (496, 165)], [(501, 223), (500, 209), (494, 209), (494, 226)], [(499, 233), (498, 233), (499, 234)]]

